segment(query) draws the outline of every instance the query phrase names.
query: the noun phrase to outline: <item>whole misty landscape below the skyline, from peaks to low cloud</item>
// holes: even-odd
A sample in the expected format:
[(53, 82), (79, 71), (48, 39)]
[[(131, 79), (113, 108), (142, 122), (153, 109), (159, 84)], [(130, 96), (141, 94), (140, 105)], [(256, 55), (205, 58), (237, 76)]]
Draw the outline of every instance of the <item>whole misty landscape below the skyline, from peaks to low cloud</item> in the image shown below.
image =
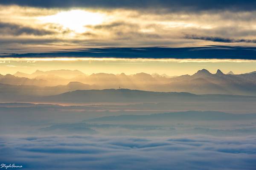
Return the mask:
[[(134, 162), (138, 170), (209, 169), (194, 159), (215, 162), (213, 169), (233, 161), (230, 169), (253, 170), (255, 82), (255, 72), (219, 70), (178, 77), (70, 70), (1, 75), (0, 158), (31, 170), (130, 169)], [(184, 165), (184, 158), (192, 163)]]

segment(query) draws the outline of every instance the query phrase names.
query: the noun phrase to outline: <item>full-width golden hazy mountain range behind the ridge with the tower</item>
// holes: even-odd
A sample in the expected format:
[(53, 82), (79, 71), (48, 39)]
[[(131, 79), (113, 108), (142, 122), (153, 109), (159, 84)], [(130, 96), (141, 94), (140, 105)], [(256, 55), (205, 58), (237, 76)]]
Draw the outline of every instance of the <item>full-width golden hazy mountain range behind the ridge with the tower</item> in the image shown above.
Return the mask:
[(206, 69), (193, 75), (169, 77), (166, 74), (138, 73), (132, 75), (97, 73), (86, 75), (78, 70), (17, 72), (0, 75), (0, 93), (49, 96), (75, 90), (128, 88), (158, 92), (189, 92), (193, 94), (256, 95), (256, 71), (245, 74), (215, 74)]

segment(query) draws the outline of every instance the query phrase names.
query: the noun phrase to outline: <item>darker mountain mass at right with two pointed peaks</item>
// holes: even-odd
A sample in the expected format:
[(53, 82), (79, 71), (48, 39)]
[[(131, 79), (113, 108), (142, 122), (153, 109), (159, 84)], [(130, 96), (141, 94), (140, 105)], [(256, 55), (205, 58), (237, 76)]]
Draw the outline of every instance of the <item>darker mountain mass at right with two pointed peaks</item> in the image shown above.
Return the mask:
[(256, 95), (256, 73), (231, 75), (218, 70), (212, 74), (203, 69), (191, 76), (172, 78), (166, 86), (195, 94)]

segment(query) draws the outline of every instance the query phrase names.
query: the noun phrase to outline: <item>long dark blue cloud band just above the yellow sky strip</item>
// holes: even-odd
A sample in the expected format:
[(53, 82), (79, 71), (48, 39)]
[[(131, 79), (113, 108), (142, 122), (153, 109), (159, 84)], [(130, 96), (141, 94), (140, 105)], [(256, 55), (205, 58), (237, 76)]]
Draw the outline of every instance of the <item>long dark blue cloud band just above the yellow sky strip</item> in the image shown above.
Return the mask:
[(107, 57), (150, 59), (256, 59), (255, 47), (87, 48), (53, 53), (2, 54), (1, 57)]

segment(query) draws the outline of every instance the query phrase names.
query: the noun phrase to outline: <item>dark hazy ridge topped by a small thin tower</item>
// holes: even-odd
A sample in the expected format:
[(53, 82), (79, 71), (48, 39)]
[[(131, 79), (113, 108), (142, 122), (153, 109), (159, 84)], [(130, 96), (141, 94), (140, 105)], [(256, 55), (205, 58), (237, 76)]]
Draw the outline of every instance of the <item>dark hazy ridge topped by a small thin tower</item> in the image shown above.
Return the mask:
[(152, 92), (130, 89), (77, 90), (54, 96), (46, 96), (41, 101), (48, 102), (186, 102), (186, 101), (241, 101), (256, 100), (256, 96), (195, 95), (185, 92)]

